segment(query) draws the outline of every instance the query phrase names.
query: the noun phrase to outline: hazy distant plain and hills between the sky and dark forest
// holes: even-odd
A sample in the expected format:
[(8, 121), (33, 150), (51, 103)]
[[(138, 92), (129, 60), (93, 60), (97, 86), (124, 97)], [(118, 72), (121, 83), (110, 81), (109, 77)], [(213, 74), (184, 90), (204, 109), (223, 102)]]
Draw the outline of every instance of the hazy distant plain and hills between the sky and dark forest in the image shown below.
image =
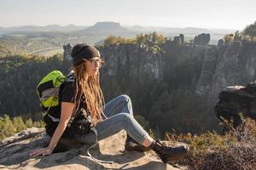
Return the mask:
[(102, 44), (109, 36), (135, 38), (138, 34), (149, 34), (153, 31), (173, 38), (179, 34), (185, 41), (194, 39), (201, 33), (210, 33), (210, 44), (217, 44), (225, 34), (232, 30), (204, 29), (195, 27), (159, 27), (159, 26), (121, 26), (119, 22), (102, 21), (94, 26), (14, 26), (0, 27), (0, 56), (5, 54), (31, 54), (48, 48), (59, 48), (67, 43)]

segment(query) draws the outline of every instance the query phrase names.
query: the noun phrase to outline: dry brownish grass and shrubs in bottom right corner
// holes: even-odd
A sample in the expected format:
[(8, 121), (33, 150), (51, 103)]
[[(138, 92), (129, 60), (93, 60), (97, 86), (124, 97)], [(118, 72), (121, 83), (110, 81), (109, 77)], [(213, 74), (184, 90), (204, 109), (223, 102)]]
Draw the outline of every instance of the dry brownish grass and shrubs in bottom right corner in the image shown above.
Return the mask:
[(256, 169), (256, 123), (245, 119), (236, 129), (227, 123), (230, 132), (219, 135), (208, 132), (200, 136), (190, 133), (175, 135), (166, 133), (172, 141), (185, 142), (190, 146), (188, 156), (177, 163), (196, 170), (255, 170)]

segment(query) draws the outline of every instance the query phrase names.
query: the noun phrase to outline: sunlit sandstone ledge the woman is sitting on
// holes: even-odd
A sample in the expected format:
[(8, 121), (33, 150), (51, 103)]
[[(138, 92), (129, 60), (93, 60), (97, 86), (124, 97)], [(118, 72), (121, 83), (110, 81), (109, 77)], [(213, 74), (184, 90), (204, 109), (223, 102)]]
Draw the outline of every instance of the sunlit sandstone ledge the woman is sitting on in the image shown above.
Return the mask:
[(99, 145), (90, 150), (92, 156), (113, 164), (93, 161), (86, 154), (88, 145), (73, 146), (66, 152), (55, 153), (50, 156), (29, 157), (31, 150), (46, 146), (49, 137), (44, 128), (31, 128), (15, 136), (4, 139), (0, 143), (1, 169), (186, 169), (186, 167), (172, 167), (162, 163), (153, 151), (141, 153), (124, 151), (125, 133), (120, 132), (108, 139), (99, 142)]

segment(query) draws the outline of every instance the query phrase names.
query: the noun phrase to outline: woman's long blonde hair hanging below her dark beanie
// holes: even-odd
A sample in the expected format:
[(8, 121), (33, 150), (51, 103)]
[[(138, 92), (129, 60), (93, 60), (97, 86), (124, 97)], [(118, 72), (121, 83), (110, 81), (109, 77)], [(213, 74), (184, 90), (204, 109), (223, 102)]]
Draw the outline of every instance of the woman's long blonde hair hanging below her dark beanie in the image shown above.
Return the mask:
[(95, 76), (88, 77), (85, 70), (85, 61), (77, 66), (73, 66), (76, 83), (73, 114), (76, 115), (79, 113), (79, 105), (84, 95), (84, 108), (87, 109), (87, 112), (89, 111), (92, 116), (92, 122), (96, 125), (96, 122), (102, 120), (102, 106), (105, 104), (100, 86), (100, 72)]

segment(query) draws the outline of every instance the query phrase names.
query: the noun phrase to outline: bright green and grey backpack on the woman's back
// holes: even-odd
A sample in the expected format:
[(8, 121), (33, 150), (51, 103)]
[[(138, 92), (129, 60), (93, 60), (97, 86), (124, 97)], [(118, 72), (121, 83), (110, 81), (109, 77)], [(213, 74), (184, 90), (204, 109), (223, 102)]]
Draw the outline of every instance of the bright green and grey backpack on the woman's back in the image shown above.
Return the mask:
[(60, 105), (59, 92), (61, 84), (66, 81), (66, 78), (61, 71), (51, 71), (38, 83), (37, 92), (40, 105), (43, 107), (43, 116), (51, 107)]

